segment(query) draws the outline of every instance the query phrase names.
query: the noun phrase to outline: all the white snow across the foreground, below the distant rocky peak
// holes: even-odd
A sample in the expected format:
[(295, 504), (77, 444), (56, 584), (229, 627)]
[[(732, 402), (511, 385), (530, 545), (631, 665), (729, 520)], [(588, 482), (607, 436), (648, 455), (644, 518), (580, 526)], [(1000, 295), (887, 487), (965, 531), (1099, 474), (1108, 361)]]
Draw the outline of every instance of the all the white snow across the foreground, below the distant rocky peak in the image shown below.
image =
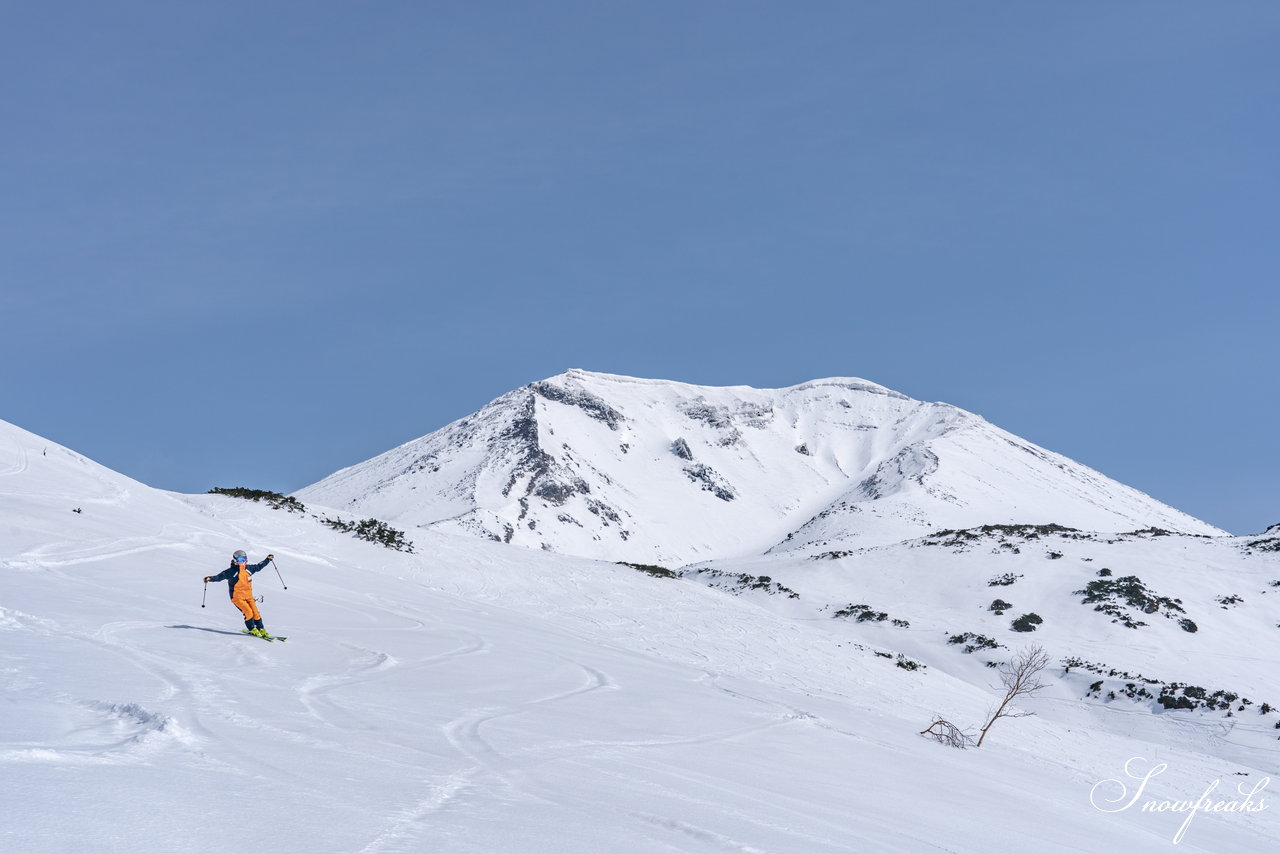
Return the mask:
[[(1137, 785), (1126, 763), (1156, 762), (1143, 798), (1216, 781), (1262, 803), (1190, 814), (1179, 850), (1280, 835), (1277, 716), (1256, 708), (1233, 722), (1085, 702), (1055, 672), (1025, 703), (1036, 717), (997, 723), (980, 750), (918, 735), (992, 705), (983, 656), (942, 635), (996, 631), (978, 606), (997, 570), (1024, 576), (998, 592), (1039, 608), (1053, 647), (1263, 691), (1272, 540), (1030, 540), (1071, 552), (1051, 558), (975, 534), (753, 558), (791, 599), (708, 586), (730, 562), (654, 577), (439, 531), (399, 553), (310, 510), (161, 493), (0, 423), (0, 850), (1149, 851), (1188, 818), (1117, 807)], [(288, 590), (270, 570), (256, 589), (288, 643), (234, 634), (220, 589), (201, 606), (200, 577), (234, 548), (275, 553)], [(1201, 566), (1215, 583), (1181, 592), (1201, 630), (1158, 615), (1119, 629), (1060, 602), (1052, 579), (1070, 586), (1102, 556), (1161, 592)], [(940, 572), (960, 580), (913, 590)], [(1202, 598), (1219, 592), (1244, 602), (1217, 612)], [(910, 626), (819, 604), (859, 594)]]

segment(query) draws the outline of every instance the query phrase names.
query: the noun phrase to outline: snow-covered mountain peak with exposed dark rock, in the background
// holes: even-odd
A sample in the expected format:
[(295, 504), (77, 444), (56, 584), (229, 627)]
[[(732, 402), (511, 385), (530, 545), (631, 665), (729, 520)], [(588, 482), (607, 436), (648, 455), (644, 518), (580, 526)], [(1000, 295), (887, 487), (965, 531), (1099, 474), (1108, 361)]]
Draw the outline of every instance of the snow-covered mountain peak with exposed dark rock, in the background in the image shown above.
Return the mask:
[(1222, 534), (970, 412), (850, 378), (755, 389), (571, 370), (298, 497), (662, 565), (988, 522)]

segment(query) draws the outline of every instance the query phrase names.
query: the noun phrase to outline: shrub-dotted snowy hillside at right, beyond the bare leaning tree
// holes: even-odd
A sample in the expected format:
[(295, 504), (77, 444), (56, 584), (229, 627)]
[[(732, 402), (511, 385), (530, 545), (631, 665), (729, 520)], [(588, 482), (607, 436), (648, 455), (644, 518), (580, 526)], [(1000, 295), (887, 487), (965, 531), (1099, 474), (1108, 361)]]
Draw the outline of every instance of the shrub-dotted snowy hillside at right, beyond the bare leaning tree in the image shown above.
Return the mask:
[(1061, 697), (1112, 725), (1156, 714), (1219, 755), (1280, 755), (1280, 536), (987, 526), (682, 576), (794, 618), (860, 624), (975, 684), (988, 662), (1041, 644), (1069, 668)]

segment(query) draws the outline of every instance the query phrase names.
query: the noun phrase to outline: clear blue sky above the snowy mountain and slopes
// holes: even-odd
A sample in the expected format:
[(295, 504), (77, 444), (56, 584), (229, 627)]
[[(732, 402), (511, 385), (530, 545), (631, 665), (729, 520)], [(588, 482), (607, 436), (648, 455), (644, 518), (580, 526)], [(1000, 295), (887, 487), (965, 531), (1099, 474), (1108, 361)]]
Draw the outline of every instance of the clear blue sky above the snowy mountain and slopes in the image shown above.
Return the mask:
[(863, 376), (1256, 533), (1276, 44), (1270, 1), (12, 6), (0, 417), (289, 492), (568, 367)]

